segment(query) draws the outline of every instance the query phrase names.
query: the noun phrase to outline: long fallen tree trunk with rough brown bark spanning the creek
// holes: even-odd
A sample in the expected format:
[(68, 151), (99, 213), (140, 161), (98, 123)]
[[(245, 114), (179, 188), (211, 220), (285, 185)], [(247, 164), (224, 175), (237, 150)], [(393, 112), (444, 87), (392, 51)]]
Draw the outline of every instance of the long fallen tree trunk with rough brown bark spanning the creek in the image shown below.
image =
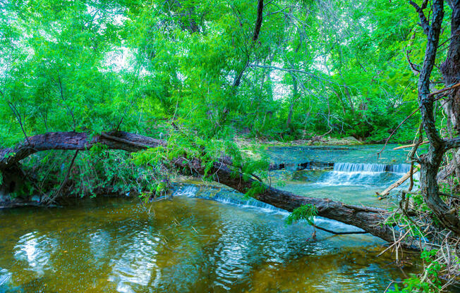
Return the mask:
[[(17, 164), (23, 158), (36, 153), (53, 149), (61, 150), (87, 150), (95, 144), (104, 144), (109, 149), (122, 149), (125, 151), (140, 151), (149, 147), (166, 146), (167, 142), (153, 139), (143, 135), (135, 135), (129, 132), (105, 132), (92, 138), (80, 132), (49, 132), (44, 135), (28, 137), (28, 141), (22, 142), (12, 148), (0, 150), (0, 170), (6, 170), (9, 166)], [(176, 158), (171, 161), (176, 168), (193, 170), (200, 175), (205, 174), (205, 167), (198, 158)], [(241, 173), (231, 170), (231, 159), (222, 158), (214, 162), (212, 174), (214, 181), (246, 193), (254, 182), (263, 185), (262, 182), (247, 178)], [(301, 197), (291, 192), (276, 189), (267, 185), (263, 186), (263, 192), (255, 195), (255, 199), (271, 204), (286, 211), (313, 204), (317, 208), (317, 216), (337, 220), (341, 223), (359, 227), (372, 235), (380, 237), (387, 242), (394, 240), (394, 231), (388, 225), (382, 225), (385, 220), (385, 210), (367, 206), (355, 206), (344, 204), (330, 199), (313, 197)], [(397, 235), (399, 232), (397, 232)], [(406, 244), (406, 247), (409, 244)]]

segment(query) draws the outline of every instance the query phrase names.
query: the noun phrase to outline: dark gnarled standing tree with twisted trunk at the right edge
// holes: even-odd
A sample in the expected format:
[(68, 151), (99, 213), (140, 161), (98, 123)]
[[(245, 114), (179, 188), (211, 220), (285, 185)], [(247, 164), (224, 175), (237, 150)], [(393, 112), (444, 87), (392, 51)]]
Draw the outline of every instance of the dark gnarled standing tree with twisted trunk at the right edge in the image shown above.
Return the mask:
[[(454, 38), (451, 40), (452, 48), (449, 47), (449, 53), (447, 60), (442, 65), (442, 73), (444, 77), (444, 82), (446, 83), (447, 88), (443, 89), (442, 92), (452, 89), (452, 85), (449, 82), (459, 81), (459, 75), (454, 74), (455, 70), (459, 68), (459, 60), (452, 60), (453, 56), (459, 54), (460, 46), (458, 44), (458, 22), (459, 19), (455, 19), (455, 16), (458, 15), (458, 9), (460, 9), (460, 2), (454, 2), (454, 18), (452, 18), (452, 32), (454, 33)], [(435, 99), (436, 94), (442, 94), (442, 92), (430, 92), (430, 76), (435, 66), (437, 48), (440, 40), (440, 32), (442, 29), (442, 20), (444, 18), (444, 1), (434, 1), (432, 4), (432, 17), (431, 23), (428, 22), (428, 19), (425, 17), (423, 10), (427, 7), (428, 1), (424, 1), (422, 6), (418, 6), (416, 3), (411, 1), (411, 4), (416, 8), (418, 15), (420, 17), (420, 24), (423, 27), (423, 32), (427, 35), (427, 44), (425, 49), (425, 58), (423, 61), (423, 66), (420, 70), (420, 76), (418, 77), (418, 104), (420, 105), (420, 113), (422, 115), (422, 125), (425, 134), (428, 137), (430, 142), (430, 149), (428, 154), (420, 157), (420, 166), (421, 166), (421, 192), (425, 199), (426, 204), (433, 211), (435, 217), (440, 220), (440, 223), (454, 232), (456, 235), (460, 236), (460, 218), (459, 211), (457, 211), (458, 206), (452, 204), (448, 206), (440, 197), (439, 187), (437, 185), (437, 173), (442, 163), (443, 156), (446, 151), (452, 148), (457, 148), (460, 146), (459, 137), (452, 139), (442, 139), (440, 136), (439, 130), (437, 130), (435, 124)], [(458, 99), (458, 89), (453, 89), (452, 94), (449, 94), (448, 102), (452, 105), (456, 104), (456, 99)], [(454, 120), (458, 118), (458, 113), (455, 113), (454, 108), (452, 108), (452, 113), (454, 114)]]

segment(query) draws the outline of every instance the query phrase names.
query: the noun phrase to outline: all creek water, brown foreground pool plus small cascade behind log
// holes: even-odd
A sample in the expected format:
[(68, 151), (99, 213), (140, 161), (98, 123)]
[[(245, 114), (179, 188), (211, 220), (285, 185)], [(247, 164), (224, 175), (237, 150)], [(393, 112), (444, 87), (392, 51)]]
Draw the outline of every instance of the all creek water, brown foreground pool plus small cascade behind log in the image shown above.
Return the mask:
[[(315, 151), (325, 150), (308, 152)], [(274, 180), (298, 193), (378, 206), (369, 190), (407, 168), (347, 162), (353, 151), (334, 151), (345, 154), (332, 170), (280, 170)], [(137, 199), (98, 198), (0, 211), (0, 292), (383, 292), (418, 270), (378, 256), (377, 237), (317, 231), (313, 239), (305, 223), (285, 225), (285, 211), (229, 189), (178, 184), (171, 200), (151, 206), (148, 213)]]

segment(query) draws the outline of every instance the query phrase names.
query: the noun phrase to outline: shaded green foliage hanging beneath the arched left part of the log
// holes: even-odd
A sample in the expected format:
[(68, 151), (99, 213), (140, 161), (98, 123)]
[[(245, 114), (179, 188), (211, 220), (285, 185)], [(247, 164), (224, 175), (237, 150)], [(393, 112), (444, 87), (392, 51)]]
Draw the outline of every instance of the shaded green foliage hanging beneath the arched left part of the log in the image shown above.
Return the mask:
[[(130, 154), (124, 151), (109, 151), (105, 146), (95, 145), (90, 151), (80, 152), (71, 168), (68, 184), (63, 190), (66, 196), (95, 197), (97, 194), (155, 194), (157, 182), (164, 176), (155, 168), (138, 166)], [(37, 186), (27, 187), (30, 194), (52, 196), (70, 167), (73, 154), (70, 152), (40, 152), (23, 162), (26, 171), (33, 170)], [(40, 163), (40, 168), (35, 169)], [(163, 177), (162, 177), (163, 176)]]

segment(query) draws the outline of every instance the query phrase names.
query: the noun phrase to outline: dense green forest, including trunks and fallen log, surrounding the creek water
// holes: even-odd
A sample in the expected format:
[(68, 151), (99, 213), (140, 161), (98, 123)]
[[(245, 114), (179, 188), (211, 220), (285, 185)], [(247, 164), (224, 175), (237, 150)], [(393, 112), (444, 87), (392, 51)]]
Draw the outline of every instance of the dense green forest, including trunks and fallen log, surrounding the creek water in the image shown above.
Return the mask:
[[(358, 227), (401, 266), (418, 251), (385, 291), (458, 289), (459, 0), (4, 0), (0, 103), (0, 206), (135, 194), (150, 211), (193, 177), (287, 223)], [(272, 184), (287, 162), (268, 146), (339, 144), (404, 145), (387, 206)], [(328, 162), (303, 169), (344, 172)]]

